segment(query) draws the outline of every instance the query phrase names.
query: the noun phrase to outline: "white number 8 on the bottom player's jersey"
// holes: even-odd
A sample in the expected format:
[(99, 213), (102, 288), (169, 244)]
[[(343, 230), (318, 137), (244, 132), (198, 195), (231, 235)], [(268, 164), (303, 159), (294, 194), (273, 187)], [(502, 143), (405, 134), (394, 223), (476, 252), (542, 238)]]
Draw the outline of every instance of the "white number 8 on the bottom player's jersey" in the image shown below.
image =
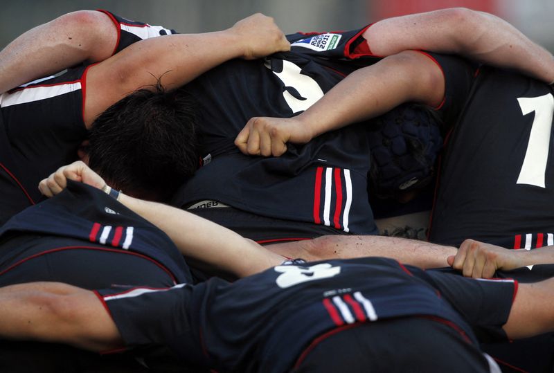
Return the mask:
[(276, 266), (275, 271), (282, 273), (275, 280), (277, 286), (285, 289), (303, 282), (332, 278), (341, 273), (341, 267), (321, 263), (315, 266)]

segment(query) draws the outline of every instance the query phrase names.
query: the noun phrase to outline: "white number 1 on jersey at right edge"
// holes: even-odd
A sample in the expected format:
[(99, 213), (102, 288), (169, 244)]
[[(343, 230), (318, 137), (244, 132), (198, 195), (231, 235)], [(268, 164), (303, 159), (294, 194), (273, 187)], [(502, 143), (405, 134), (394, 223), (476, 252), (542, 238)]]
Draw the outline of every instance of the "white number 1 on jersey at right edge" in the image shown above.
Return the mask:
[(554, 97), (552, 93), (548, 93), (539, 97), (520, 97), (517, 101), (524, 116), (535, 111), (535, 118), (516, 183), (546, 188), (544, 179), (551, 141)]

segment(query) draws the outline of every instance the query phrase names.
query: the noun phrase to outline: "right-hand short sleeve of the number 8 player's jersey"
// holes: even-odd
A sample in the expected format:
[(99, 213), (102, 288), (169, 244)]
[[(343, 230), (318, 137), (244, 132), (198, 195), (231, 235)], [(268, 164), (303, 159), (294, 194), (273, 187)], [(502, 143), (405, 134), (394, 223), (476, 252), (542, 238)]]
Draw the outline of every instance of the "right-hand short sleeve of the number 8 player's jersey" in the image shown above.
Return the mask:
[(472, 279), (427, 271), (435, 288), (472, 325), (479, 340), (506, 340), (501, 327), (508, 321), (517, 281)]

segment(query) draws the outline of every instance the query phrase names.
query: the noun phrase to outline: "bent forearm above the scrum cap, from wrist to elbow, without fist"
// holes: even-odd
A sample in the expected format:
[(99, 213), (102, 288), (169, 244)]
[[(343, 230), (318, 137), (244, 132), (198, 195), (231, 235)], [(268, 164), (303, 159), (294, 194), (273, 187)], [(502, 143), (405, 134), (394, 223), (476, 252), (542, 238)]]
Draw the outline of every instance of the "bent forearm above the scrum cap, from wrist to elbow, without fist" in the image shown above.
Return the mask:
[(426, 55), (404, 52), (359, 69), (298, 116), (312, 138), (386, 113), (403, 102), (431, 107), (444, 96), (444, 76)]

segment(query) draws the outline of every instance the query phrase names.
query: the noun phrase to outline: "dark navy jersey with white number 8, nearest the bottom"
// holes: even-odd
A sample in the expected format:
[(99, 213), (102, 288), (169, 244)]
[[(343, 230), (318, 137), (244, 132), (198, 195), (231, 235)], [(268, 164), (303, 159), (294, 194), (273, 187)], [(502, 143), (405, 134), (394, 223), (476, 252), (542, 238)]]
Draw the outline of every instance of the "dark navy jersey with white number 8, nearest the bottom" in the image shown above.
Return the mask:
[(288, 372), (316, 337), (361, 322), (425, 316), (468, 343), (476, 343), (473, 329), (503, 337), (515, 289), (512, 280), (362, 258), (276, 266), (233, 284), (213, 278), (98, 295), (129, 346), (168, 344), (188, 365), (221, 372)]

